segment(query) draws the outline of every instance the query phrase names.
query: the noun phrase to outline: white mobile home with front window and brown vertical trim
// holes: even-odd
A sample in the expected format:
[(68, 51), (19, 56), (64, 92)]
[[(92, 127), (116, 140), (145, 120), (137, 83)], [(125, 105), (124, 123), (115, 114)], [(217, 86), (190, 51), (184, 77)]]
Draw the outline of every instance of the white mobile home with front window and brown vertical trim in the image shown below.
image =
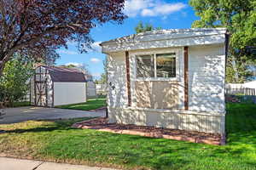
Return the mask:
[(102, 42), (109, 122), (224, 134), (226, 37), (183, 29)]

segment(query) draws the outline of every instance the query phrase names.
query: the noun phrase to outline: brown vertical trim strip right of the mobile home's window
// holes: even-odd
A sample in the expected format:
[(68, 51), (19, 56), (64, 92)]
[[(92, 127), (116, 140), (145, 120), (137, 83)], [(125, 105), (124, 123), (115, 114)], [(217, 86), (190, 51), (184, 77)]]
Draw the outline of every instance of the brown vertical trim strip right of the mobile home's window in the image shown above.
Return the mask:
[(184, 47), (184, 107), (189, 110), (189, 48)]

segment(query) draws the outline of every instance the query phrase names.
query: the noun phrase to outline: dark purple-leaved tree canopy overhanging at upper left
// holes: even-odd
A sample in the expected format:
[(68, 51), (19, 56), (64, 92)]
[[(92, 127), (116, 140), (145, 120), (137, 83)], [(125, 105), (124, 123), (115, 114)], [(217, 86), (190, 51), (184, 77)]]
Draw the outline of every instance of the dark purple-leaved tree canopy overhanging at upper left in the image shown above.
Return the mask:
[[(0, 75), (15, 53), (39, 58), (67, 41), (81, 53), (93, 42), (90, 29), (121, 23), (125, 0), (0, 0)], [(86, 48), (87, 47), (87, 48)]]

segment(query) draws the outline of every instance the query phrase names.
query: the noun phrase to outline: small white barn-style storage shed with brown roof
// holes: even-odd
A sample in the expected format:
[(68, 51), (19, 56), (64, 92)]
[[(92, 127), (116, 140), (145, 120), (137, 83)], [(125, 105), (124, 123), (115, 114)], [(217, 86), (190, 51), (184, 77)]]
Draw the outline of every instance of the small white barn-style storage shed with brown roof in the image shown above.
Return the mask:
[(31, 79), (31, 105), (54, 107), (86, 101), (84, 73), (76, 69), (40, 65)]

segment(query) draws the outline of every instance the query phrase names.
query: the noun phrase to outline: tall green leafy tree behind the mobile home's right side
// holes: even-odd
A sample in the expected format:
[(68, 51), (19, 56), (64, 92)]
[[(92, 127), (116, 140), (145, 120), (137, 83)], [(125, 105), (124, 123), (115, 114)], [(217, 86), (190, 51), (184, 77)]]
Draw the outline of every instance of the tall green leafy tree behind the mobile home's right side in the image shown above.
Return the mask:
[(256, 63), (255, 0), (190, 0), (195, 14), (192, 27), (226, 27), (230, 33), (227, 82), (244, 82), (252, 77), (248, 65)]

